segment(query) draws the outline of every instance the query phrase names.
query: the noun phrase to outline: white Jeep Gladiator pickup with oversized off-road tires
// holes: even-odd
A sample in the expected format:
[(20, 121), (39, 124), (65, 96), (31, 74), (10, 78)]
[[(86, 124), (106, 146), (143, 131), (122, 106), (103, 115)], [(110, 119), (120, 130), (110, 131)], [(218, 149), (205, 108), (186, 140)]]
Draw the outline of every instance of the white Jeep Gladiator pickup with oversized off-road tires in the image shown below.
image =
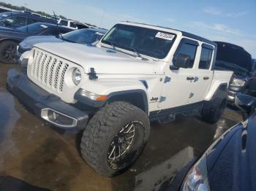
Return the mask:
[(83, 159), (113, 176), (138, 157), (150, 121), (201, 114), (217, 122), (232, 72), (214, 71), (216, 53), (200, 36), (122, 22), (97, 47), (36, 44), (23, 55), (26, 73), (8, 71), (7, 88), (51, 124), (83, 129)]

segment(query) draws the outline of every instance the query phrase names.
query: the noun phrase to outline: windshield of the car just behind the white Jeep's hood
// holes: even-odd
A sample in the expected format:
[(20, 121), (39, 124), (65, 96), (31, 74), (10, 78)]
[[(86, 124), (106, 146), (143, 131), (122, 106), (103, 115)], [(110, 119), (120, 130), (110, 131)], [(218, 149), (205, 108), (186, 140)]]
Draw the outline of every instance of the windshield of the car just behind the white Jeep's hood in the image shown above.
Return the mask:
[(99, 41), (104, 34), (89, 29), (80, 29), (62, 35), (64, 40), (80, 44), (92, 44)]

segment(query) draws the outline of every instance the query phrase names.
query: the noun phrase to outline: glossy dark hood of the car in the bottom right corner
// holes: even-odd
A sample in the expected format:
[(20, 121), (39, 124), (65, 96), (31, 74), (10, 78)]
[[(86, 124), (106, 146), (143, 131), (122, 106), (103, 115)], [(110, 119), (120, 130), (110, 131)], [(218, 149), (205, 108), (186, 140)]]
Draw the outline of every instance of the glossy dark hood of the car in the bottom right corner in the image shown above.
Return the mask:
[(256, 179), (255, 125), (254, 114), (247, 125), (240, 123), (230, 130), (208, 155), (208, 180), (212, 190), (252, 190), (256, 187), (256, 182), (252, 181)]

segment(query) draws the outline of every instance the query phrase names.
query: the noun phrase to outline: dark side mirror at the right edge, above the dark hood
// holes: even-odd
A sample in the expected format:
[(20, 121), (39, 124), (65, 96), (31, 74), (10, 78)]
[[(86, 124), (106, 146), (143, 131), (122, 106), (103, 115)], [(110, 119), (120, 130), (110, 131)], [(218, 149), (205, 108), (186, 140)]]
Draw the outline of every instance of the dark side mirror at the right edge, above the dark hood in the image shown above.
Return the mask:
[(241, 109), (244, 120), (248, 118), (256, 108), (256, 98), (251, 95), (237, 94), (235, 100), (236, 106)]

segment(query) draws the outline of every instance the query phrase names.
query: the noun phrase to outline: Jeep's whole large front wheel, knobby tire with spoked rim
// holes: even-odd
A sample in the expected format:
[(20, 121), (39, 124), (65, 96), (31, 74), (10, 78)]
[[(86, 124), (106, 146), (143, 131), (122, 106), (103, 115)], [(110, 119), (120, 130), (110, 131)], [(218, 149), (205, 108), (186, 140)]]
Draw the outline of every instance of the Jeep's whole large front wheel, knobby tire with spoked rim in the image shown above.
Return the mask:
[(113, 102), (89, 121), (80, 144), (81, 154), (99, 174), (114, 176), (135, 161), (149, 131), (145, 112), (126, 102)]

